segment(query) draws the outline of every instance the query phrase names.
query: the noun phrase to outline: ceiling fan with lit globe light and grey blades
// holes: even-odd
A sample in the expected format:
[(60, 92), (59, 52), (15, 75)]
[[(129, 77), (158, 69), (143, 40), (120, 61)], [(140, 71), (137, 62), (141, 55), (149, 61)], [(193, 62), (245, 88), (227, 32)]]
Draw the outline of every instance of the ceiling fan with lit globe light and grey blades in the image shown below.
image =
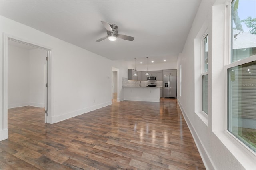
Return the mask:
[(117, 34), (118, 33), (118, 31), (117, 31), (118, 26), (117, 25), (108, 24), (105, 21), (101, 21), (101, 23), (106, 28), (108, 36), (100, 38), (99, 40), (96, 40), (96, 42), (100, 42), (102, 40), (105, 40), (106, 38), (108, 38), (108, 40), (110, 40), (110, 41), (116, 41), (117, 37), (121, 38), (121, 39), (124, 39), (124, 40), (128, 40), (128, 41), (133, 41), (134, 40), (134, 37), (126, 36), (126, 35), (122, 35), (122, 34)]

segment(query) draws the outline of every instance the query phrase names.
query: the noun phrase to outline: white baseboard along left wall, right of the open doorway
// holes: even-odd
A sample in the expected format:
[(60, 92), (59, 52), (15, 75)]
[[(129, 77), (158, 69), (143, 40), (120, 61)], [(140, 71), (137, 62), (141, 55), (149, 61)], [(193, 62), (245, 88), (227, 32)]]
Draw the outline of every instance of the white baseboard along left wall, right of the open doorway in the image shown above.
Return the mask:
[(91, 107), (86, 107), (84, 109), (80, 109), (80, 110), (77, 110), (77, 111), (72, 111), (72, 112), (69, 112), (69, 113), (65, 113), (63, 115), (51, 117), (50, 123), (57, 123), (57, 122), (60, 122), (60, 121), (64, 121), (66, 119), (69, 119), (69, 118), (72, 118), (72, 117), (75, 117), (75, 116), (78, 116), (78, 115), (82, 115), (84, 113), (94, 111), (96, 109), (100, 109), (100, 108), (108, 106), (108, 105), (112, 105), (112, 101), (102, 103), (102, 104), (99, 104), (99, 105), (93, 105)]

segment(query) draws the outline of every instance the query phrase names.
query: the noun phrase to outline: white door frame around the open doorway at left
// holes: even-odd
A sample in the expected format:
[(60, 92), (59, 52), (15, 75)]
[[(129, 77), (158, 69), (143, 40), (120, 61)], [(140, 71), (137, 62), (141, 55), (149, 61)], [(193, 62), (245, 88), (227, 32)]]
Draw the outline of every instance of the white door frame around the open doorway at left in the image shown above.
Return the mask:
[(2, 106), (2, 117), (0, 119), (0, 123), (2, 124), (0, 127), (1, 130), (1, 136), (0, 140), (4, 140), (8, 138), (8, 40), (12, 40), (15, 42), (19, 43), (24, 43), (27, 45), (31, 45), (40, 49), (44, 49), (48, 53), (48, 76), (47, 76), (47, 81), (48, 81), (48, 88), (46, 87), (46, 90), (48, 91), (47, 95), (47, 103), (45, 103), (45, 108), (48, 109), (48, 115), (45, 113), (45, 123), (50, 122), (50, 117), (51, 117), (51, 61), (52, 61), (52, 49), (49, 47), (46, 47), (44, 45), (39, 45), (33, 42), (29, 42), (27, 40), (23, 40), (21, 38), (12, 36), (10, 34), (3, 34), (3, 77), (2, 77), (2, 96), (3, 100), (1, 101), (1, 106)]

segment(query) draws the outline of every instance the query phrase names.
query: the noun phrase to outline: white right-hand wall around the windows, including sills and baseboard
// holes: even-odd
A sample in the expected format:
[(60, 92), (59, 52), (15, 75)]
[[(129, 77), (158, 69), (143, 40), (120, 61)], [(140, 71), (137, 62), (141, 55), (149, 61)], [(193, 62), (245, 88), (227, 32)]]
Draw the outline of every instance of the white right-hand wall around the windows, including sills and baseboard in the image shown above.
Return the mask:
[[(255, 156), (224, 132), (224, 9), (224, 1), (202, 1), (200, 4), (184, 49), (178, 57), (177, 68), (182, 65), (182, 95), (178, 95), (178, 103), (207, 169), (255, 169)], [(200, 51), (197, 51), (199, 35), (205, 31), (202, 28), (208, 28), (209, 37), (206, 118), (198, 113), (201, 108), (197, 103), (198, 96), (202, 95), (202, 91), (198, 90), (201, 60)]]

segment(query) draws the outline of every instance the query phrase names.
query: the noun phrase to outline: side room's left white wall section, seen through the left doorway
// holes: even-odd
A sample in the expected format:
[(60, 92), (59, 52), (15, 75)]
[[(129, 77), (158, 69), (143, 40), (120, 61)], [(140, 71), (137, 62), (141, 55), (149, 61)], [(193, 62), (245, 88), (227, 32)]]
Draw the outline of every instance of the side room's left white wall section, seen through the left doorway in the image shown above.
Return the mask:
[(9, 45), (8, 108), (29, 105), (29, 51)]

